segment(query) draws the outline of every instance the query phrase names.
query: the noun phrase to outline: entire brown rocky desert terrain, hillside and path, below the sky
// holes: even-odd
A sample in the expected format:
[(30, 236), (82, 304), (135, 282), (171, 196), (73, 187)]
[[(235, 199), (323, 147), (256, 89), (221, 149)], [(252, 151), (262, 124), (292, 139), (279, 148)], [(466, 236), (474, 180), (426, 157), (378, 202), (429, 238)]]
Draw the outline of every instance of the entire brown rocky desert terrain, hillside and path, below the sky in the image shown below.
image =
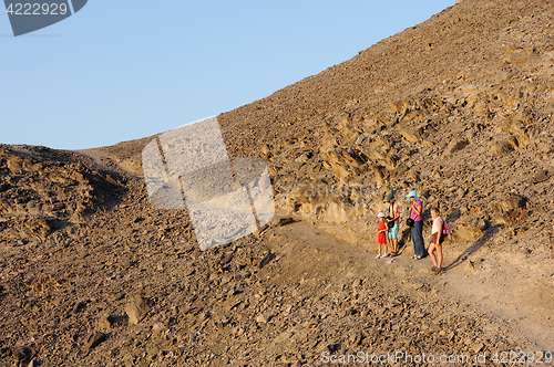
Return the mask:
[[(279, 214), (204, 252), (186, 212), (147, 198), (152, 137), (0, 146), (0, 366), (320, 366), (357, 352), (510, 365), (491, 357), (553, 350), (553, 12), (464, 0), (219, 115), (233, 157), (267, 161)], [(406, 228), (400, 256), (373, 259), (383, 196), (403, 219), (412, 189), (425, 238), (431, 206), (452, 230), (443, 275), (410, 259)]]

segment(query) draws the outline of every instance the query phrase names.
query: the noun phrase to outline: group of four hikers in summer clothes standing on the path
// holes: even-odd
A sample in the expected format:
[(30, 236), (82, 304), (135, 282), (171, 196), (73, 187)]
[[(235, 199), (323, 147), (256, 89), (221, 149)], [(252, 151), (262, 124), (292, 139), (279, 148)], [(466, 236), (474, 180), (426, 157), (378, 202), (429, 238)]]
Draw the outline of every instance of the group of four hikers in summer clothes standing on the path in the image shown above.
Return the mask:
[[(410, 201), (410, 218), (407, 220), (407, 226), (411, 227), (411, 237), (413, 241), (412, 259), (421, 260), (425, 256), (425, 245), (423, 241), (423, 202), (418, 198), (416, 191), (411, 191), (406, 196)], [(400, 229), (400, 207), (394, 201), (393, 195), (384, 198), (387, 203), (386, 212), (380, 212), (377, 243), (379, 253), (376, 259), (398, 255), (398, 231)], [(427, 253), (433, 261), (433, 266), (430, 269), (434, 273), (442, 273), (442, 243), (444, 238), (449, 235), (448, 224), (441, 217), (439, 208), (431, 209), (431, 218), (433, 226), (431, 229), (431, 241)], [(388, 253), (388, 241), (390, 241), (391, 251)], [(437, 255), (435, 253), (437, 252)]]

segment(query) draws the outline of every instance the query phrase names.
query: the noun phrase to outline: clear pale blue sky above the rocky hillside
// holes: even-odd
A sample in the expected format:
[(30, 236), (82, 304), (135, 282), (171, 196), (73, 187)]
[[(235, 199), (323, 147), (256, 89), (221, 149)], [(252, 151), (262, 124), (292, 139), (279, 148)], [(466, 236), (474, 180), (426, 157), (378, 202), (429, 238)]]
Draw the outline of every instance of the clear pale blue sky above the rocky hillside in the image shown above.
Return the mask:
[(0, 143), (84, 149), (166, 132), (268, 96), (453, 3), (89, 0), (18, 38), (3, 13)]

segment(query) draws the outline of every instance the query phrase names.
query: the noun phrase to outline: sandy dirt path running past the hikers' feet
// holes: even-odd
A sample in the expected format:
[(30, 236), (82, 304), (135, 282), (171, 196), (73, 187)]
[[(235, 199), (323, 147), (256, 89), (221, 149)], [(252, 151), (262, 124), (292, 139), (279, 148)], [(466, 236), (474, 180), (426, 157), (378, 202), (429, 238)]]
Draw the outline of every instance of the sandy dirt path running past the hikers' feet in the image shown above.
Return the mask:
[[(349, 284), (369, 279), (384, 293), (408, 295), (418, 304), (450, 315), (481, 317), (491, 333), (507, 334), (516, 348), (526, 352), (553, 350), (553, 295), (530, 277), (517, 259), (483, 248), (466, 260), (466, 245), (445, 247), (445, 274), (429, 271), (429, 258), (412, 260), (411, 243), (397, 258), (376, 260), (376, 249), (361, 244), (366, 234), (345, 227), (297, 221), (266, 233), (267, 244), (280, 256), (275, 282)], [(347, 242), (348, 238), (351, 241)], [(353, 243), (352, 243), (353, 242)], [(483, 259), (483, 260), (482, 260)]]

